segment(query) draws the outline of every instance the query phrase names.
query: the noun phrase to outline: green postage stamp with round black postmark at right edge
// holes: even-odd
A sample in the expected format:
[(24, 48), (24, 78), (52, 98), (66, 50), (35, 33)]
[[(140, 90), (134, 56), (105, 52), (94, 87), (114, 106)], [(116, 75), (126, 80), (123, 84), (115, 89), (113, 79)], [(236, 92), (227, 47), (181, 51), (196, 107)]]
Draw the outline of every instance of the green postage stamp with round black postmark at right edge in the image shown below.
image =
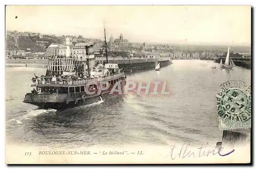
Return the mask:
[(251, 127), (251, 88), (243, 81), (223, 83), (217, 94), (217, 107), (221, 130)]

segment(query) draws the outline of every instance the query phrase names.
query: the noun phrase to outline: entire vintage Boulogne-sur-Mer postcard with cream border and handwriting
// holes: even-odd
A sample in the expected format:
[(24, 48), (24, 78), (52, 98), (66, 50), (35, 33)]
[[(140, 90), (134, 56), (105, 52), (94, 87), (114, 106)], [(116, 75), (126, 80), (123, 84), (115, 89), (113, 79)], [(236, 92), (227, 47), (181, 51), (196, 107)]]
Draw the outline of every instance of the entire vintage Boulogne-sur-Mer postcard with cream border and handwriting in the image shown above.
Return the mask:
[(6, 164), (251, 162), (251, 6), (6, 6)]

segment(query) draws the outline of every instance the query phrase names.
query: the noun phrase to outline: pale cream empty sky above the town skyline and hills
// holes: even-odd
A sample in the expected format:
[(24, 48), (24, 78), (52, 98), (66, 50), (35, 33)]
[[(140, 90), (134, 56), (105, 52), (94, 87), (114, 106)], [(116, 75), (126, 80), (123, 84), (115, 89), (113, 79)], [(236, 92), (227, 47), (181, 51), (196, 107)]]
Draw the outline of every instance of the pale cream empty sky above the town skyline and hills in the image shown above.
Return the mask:
[(6, 6), (6, 30), (103, 40), (104, 28), (130, 42), (251, 45), (251, 7)]

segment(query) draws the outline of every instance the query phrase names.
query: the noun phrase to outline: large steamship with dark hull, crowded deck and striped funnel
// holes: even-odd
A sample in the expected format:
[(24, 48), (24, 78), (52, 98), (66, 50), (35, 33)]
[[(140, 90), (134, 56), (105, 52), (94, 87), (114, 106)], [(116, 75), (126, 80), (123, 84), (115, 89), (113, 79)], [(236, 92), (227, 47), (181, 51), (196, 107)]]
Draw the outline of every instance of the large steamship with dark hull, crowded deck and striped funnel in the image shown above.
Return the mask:
[[(104, 43), (106, 45), (105, 37)], [(40, 77), (34, 74), (33, 90), (26, 94), (23, 102), (44, 109), (65, 109), (101, 101), (111, 94), (113, 87), (122, 90), (126, 84), (125, 73), (118, 64), (108, 63), (107, 48), (106, 62), (96, 64), (94, 46), (84, 46), (84, 57), (70, 58), (70, 39), (66, 38), (66, 57), (49, 59), (46, 74)]]

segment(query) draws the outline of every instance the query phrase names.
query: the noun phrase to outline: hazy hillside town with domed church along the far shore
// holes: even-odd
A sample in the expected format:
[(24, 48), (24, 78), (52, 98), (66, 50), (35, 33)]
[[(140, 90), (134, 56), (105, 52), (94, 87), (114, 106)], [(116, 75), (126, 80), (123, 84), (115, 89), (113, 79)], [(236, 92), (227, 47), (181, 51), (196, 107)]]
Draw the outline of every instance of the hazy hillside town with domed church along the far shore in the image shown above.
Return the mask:
[[(86, 45), (94, 45), (95, 57), (104, 57), (103, 39), (84, 38), (72, 35), (49, 35), (31, 32), (7, 31), (6, 33), (6, 58), (7, 59), (48, 59), (54, 57), (65, 57), (65, 39), (69, 38), (70, 57), (79, 58), (86, 54)], [(150, 44), (129, 42), (125, 35), (120, 33), (119, 37), (112, 35), (108, 40), (108, 55), (121, 58), (157, 58), (171, 57), (172, 59), (201, 59), (215, 60), (226, 55), (224, 47), (182, 47), (170, 44)], [(251, 58), (250, 48), (231, 48), (232, 58)]]

